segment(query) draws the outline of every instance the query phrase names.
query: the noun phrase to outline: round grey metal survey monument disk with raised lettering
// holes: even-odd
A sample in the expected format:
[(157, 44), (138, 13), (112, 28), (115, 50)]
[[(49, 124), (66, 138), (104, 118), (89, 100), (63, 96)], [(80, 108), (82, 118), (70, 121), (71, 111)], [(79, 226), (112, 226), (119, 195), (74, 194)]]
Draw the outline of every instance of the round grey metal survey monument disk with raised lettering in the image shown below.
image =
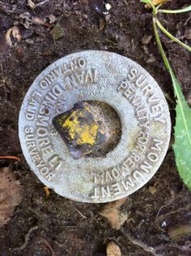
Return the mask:
[[(104, 157), (74, 159), (52, 121), (88, 100), (117, 111), (121, 140)], [(168, 104), (153, 77), (128, 58), (98, 50), (47, 67), (19, 114), (19, 139), (32, 171), (56, 193), (80, 202), (110, 202), (140, 189), (163, 162), (170, 132)]]

